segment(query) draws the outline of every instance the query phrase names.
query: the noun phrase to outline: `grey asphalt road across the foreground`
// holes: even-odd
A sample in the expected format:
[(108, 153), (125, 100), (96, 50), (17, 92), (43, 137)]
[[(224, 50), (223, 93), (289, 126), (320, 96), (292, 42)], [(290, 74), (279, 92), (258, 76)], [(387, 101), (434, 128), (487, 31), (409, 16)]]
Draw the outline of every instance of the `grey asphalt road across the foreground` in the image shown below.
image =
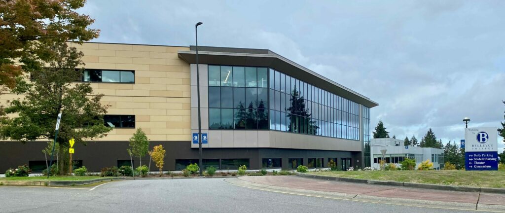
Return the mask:
[(93, 190), (0, 186), (0, 212), (474, 212), (249, 189), (224, 179), (128, 180)]

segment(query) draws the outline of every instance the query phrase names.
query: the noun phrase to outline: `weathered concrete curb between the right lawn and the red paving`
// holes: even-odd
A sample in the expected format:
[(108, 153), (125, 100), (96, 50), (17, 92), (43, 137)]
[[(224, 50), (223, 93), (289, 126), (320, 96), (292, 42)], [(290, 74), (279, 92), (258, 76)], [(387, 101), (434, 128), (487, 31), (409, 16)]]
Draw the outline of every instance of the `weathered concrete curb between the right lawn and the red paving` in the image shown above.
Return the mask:
[(445, 190), (445, 191), (485, 192), (485, 193), (505, 194), (505, 188), (450, 186), (450, 185), (439, 185), (439, 184), (409, 183), (409, 182), (398, 182), (398, 181), (377, 181), (377, 180), (365, 180), (365, 179), (354, 179), (354, 178), (328, 177), (328, 176), (310, 175), (310, 174), (303, 174), (303, 173), (295, 173), (295, 174), (296, 174), (296, 176), (300, 176), (300, 177), (315, 178), (315, 179), (329, 180), (329, 181), (343, 181), (343, 182), (350, 182), (350, 183), (377, 184), (377, 185), (385, 185), (385, 186), (403, 186), (403, 187), (411, 187), (411, 188), (436, 189), (436, 190)]

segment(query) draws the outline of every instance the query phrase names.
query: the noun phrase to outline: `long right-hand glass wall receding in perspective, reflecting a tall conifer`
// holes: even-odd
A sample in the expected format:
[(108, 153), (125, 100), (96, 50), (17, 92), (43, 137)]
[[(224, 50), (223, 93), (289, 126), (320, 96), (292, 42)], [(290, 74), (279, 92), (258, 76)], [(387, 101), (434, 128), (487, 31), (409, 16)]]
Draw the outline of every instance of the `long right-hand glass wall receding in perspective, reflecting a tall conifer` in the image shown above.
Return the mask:
[(360, 140), (359, 104), (269, 69), (270, 129)]

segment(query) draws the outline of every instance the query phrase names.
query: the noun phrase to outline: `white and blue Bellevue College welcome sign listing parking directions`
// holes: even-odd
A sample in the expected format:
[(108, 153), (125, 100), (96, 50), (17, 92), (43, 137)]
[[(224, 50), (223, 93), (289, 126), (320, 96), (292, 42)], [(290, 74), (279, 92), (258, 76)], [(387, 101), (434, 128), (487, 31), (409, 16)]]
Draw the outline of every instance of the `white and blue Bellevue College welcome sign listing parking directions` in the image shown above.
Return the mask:
[(498, 170), (498, 133), (496, 128), (466, 128), (466, 170)]

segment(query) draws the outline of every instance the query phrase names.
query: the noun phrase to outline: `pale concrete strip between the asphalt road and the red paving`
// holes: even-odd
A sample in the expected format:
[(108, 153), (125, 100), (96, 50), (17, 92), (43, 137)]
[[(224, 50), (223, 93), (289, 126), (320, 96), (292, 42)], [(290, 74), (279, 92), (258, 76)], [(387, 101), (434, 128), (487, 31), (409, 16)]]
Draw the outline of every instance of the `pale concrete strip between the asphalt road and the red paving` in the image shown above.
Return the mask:
[[(414, 206), (424, 206), (424, 207), (439, 207), (439, 208), (455, 208), (455, 209), (465, 209), (465, 210), (474, 210), (477, 206), (476, 203), (462, 203), (462, 202), (445, 202), (445, 201), (432, 201), (432, 200), (416, 200), (416, 199), (408, 199), (408, 198), (395, 198), (395, 197), (377, 197), (370, 195), (360, 195), (360, 194), (344, 194), (339, 192), (325, 192), (325, 191), (314, 191), (307, 189), (293, 189), (288, 187), (281, 186), (272, 186), (260, 183), (254, 183), (246, 180), (242, 180), (240, 178), (234, 179), (225, 179), (227, 183), (243, 186), (247, 188), (254, 188), (260, 190), (266, 190), (271, 192), (280, 192), (280, 193), (289, 193), (289, 194), (297, 194), (297, 195), (305, 195), (305, 196), (316, 196), (316, 197), (325, 197), (332, 199), (342, 199), (349, 201), (365, 201), (365, 202), (378, 202), (378, 203), (387, 203), (387, 204), (396, 204), (396, 205), (409, 205)], [(505, 205), (481, 205), (479, 204), (479, 209), (488, 209), (488, 210), (503, 210), (505, 209)]]

